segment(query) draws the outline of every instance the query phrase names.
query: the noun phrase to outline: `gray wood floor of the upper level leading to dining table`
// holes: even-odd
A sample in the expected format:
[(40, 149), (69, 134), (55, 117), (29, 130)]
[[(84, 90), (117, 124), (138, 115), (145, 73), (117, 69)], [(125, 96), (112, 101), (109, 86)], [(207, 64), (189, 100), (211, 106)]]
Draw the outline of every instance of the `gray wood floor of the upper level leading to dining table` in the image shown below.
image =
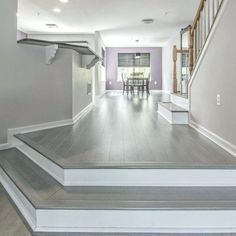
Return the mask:
[(236, 158), (187, 125), (157, 114), (168, 95), (109, 93), (74, 126), (19, 135), (65, 168), (236, 168)]

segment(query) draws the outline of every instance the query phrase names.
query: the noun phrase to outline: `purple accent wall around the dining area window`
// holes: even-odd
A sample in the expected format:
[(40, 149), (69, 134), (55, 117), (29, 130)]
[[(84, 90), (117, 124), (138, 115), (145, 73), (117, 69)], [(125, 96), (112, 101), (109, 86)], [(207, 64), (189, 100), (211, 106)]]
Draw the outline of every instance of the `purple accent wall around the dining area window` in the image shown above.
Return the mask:
[[(106, 89), (121, 90), (122, 82), (117, 81), (118, 53), (151, 54), (151, 90), (162, 89), (162, 48), (106, 48)], [(155, 84), (155, 81), (157, 84)]]

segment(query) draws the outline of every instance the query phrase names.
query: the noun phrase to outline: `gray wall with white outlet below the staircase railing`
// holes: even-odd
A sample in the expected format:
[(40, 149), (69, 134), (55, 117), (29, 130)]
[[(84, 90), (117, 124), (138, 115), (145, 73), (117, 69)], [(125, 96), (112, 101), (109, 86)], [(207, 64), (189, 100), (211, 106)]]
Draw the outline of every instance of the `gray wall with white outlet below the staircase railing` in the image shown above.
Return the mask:
[[(236, 145), (236, 1), (230, 0), (191, 87), (191, 119)], [(221, 106), (216, 96), (221, 95)]]

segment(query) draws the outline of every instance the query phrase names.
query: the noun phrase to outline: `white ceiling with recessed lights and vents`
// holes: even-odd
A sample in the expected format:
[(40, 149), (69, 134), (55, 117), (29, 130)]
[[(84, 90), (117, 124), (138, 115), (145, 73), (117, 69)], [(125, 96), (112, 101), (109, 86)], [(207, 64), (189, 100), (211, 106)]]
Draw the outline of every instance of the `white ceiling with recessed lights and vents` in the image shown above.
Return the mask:
[[(199, 0), (18, 0), (18, 28), (30, 34), (100, 31), (106, 46), (163, 46), (192, 23)], [(61, 13), (54, 13), (58, 7)], [(155, 22), (145, 25), (144, 18)], [(49, 29), (45, 24), (57, 24)], [(139, 39), (137, 45), (135, 40)]]

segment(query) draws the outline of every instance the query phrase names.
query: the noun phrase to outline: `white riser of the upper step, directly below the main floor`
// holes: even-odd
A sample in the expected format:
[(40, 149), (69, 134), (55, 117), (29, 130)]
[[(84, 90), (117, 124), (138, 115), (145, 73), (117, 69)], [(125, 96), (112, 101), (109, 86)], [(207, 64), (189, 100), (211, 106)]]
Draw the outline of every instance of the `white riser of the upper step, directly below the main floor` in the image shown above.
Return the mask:
[(62, 169), (14, 140), (20, 151), (64, 186), (236, 186), (233, 169)]

